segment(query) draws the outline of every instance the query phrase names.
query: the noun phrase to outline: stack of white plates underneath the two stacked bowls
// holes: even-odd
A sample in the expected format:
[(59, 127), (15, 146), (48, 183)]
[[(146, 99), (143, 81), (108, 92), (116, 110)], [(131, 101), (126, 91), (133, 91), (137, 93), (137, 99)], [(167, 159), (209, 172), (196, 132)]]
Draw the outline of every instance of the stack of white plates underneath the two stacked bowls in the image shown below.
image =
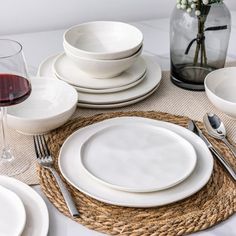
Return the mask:
[(154, 57), (143, 55), (119, 76), (97, 79), (61, 53), (45, 59), (38, 75), (53, 76), (71, 84), (78, 91), (80, 107), (113, 108), (136, 103), (154, 93), (160, 85), (161, 68)]

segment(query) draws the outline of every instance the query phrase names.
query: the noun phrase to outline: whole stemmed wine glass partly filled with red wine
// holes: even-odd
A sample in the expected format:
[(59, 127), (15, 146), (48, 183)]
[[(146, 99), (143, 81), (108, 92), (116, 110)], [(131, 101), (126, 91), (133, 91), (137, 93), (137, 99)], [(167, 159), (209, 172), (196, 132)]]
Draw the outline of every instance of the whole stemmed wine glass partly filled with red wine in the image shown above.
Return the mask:
[[(0, 174), (18, 175), (28, 168), (28, 163), (17, 161), (8, 145), (6, 130), (7, 106), (23, 102), (31, 93), (22, 45), (11, 39), (0, 39), (0, 108), (2, 128), (2, 153)], [(11, 173), (12, 172), (12, 173)]]

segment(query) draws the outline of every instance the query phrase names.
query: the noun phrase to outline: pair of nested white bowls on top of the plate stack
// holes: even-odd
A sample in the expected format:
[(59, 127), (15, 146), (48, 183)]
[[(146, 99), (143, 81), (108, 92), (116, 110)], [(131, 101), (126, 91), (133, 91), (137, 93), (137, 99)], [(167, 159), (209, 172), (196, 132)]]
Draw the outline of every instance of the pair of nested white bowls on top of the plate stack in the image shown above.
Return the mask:
[(63, 36), (68, 58), (94, 78), (113, 78), (126, 71), (141, 55), (142, 45), (142, 32), (123, 22), (84, 23)]

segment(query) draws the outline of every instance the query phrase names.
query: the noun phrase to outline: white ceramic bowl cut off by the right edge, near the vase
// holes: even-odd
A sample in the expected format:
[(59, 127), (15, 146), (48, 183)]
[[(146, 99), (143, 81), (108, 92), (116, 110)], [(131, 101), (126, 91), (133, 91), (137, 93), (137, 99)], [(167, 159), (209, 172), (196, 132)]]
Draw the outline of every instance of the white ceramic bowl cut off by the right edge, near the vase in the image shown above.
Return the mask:
[(236, 118), (236, 67), (223, 68), (208, 74), (205, 90), (217, 109)]

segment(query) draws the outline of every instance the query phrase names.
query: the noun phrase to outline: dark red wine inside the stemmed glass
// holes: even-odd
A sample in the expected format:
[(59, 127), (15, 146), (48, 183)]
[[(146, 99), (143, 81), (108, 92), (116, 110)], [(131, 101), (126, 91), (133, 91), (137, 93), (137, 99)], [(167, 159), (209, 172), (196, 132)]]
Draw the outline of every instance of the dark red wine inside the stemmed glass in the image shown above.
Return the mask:
[(0, 74), (0, 107), (23, 102), (31, 93), (29, 81), (19, 75)]

